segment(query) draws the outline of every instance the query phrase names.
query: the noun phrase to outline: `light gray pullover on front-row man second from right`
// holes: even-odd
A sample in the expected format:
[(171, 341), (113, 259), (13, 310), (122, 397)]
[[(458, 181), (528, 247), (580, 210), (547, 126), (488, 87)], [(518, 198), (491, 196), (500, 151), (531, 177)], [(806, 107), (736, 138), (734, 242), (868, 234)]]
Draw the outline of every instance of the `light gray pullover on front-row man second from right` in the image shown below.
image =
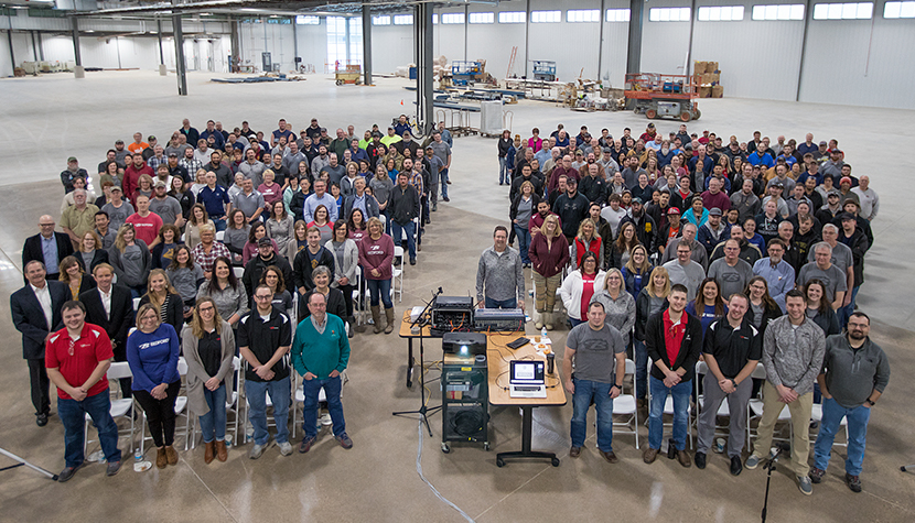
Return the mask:
[(766, 380), (785, 385), (798, 394), (812, 392), (822, 366), (826, 338), (811, 319), (797, 327), (785, 315), (773, 319), (763, 337), (763, 366)]

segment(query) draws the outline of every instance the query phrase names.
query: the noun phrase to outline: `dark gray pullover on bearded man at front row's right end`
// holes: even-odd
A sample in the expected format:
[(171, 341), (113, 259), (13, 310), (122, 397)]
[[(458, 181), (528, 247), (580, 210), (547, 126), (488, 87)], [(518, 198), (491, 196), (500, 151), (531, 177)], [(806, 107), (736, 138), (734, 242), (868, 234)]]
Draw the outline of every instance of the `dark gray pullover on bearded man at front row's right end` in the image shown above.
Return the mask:
[(871, 338), (854, 350), (844, 335), (837, 334), (826, 338), (822, 372), (826, 373), (826, 388), (836, 403), (855, 408), (874, 389), (883, 393), (890, 382), (890, 360)]

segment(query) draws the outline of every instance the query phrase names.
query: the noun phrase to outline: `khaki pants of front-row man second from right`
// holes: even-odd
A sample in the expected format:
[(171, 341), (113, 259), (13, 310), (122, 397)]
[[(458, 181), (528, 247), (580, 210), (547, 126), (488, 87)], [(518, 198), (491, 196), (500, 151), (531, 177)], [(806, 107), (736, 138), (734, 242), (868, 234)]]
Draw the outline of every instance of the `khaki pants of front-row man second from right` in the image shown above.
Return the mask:
[[(756, 432), (756, 443), (753, 445), (753, 455), (760, 459), (766, 458), (772, 447), (772, 435), (775, 422), (785, 404), (778, 401), (778, 391), (768, 381), (763, 384), (763, 417)], [(807, 459), (810, 454), (810, 411), (814, 407), (814, 393), (801, 394), (797, 400), (788, 403), (792, 413), (792, 464), (789, 468), (798, 476), (807, 476), (810, 466)]]

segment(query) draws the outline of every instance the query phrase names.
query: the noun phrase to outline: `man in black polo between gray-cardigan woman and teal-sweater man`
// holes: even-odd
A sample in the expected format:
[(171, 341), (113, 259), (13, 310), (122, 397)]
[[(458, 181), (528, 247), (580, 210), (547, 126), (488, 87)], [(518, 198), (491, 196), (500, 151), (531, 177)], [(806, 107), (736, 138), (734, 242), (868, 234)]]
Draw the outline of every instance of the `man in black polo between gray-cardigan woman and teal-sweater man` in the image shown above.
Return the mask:
[(255, 288), (255, 308), (238, 320), (238, 346), (247, 362), (245, 393), (250, 404), (255, 445), (249, 457), (263, 455), (270, 433), (267, 431), (267, 394), (273, 402), (273, 420), (277, 422), (277, 445), (280, 454), (292, 454), (289, 443), (289, 346), (292, 345), (292, 324), (273, 308), (273, 291), (267, 285)]

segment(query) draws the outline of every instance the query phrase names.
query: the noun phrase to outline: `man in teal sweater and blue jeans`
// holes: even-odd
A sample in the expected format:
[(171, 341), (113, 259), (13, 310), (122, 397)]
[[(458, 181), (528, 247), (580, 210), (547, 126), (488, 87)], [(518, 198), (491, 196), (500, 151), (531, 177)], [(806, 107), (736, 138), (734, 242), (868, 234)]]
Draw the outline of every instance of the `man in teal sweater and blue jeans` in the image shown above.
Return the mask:
[(323, 294), (312, 293), (308, 305), (311, 314), (299, 324), (292, 341), (292, 366), (305, 379), (305, 401), (302, 406), (302, 429), (305, 437), (302, 438), (299, 451), (308, 453), (317, 439), (317, 394), (322, 388), (327, 396), (334, 438), (343, 448), (353, 448), (353, 440), (346, 435), (343, 403), (340, 401), (343, 384), (340, 373), (349, 362), (346, 327), (338, 316), (327, 314), (327, 299)]

